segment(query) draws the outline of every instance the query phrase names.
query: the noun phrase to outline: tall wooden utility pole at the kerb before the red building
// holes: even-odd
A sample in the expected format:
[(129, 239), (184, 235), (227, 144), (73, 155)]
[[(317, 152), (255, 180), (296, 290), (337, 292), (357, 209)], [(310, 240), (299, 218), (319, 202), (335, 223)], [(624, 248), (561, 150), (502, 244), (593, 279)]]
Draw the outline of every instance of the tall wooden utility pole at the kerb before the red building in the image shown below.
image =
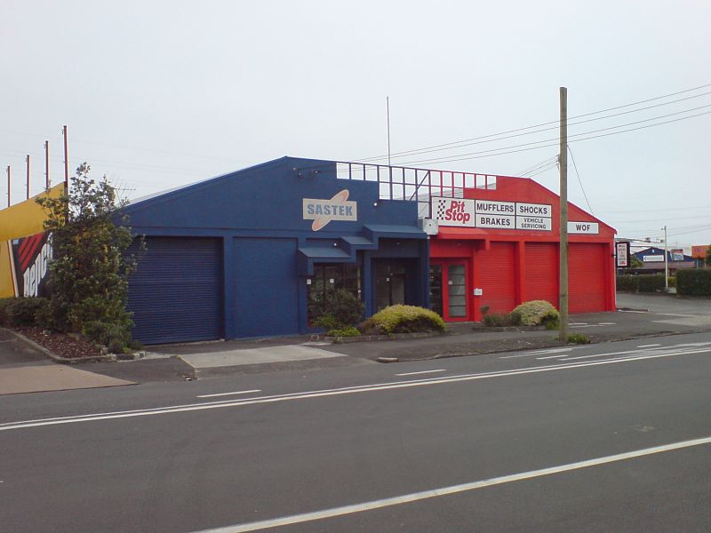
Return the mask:
[(559, 339), (568, 342), (568, 89), (560, 88), (561, 102), (561, 245), (560, 245), (560, 298), (558, 300), (561, 314)]

